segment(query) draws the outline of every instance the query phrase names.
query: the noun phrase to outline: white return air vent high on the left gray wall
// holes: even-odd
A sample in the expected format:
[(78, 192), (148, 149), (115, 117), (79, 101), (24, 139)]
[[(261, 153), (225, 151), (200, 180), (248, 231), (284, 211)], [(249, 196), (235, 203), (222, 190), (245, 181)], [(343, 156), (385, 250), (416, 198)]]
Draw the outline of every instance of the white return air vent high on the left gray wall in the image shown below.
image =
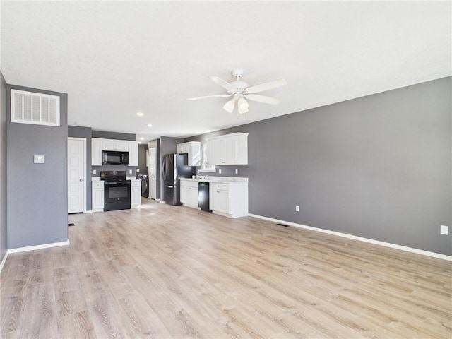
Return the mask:
[(11, 90), (11, 122), (59, 126), (59, 96)]

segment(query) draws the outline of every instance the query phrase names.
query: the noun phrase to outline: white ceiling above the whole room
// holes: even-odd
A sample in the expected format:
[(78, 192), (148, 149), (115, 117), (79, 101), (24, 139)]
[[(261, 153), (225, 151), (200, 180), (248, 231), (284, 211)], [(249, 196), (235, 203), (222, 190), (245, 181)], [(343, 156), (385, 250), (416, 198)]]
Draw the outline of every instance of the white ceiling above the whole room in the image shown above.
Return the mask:
[[(70, 125), (186, 137), (450, 76), (451, 21), (451, 1), (1, 1), (1, 72), (68, 93)], [(186, 100), (237, 67), (285, 78), (261, 93), (281, 103)]]

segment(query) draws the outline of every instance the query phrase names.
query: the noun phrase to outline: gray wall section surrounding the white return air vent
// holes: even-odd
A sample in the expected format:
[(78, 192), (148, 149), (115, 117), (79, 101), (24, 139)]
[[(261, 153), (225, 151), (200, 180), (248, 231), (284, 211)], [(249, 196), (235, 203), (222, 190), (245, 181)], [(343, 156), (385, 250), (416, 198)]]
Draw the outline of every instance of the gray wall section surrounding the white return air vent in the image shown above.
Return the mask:
[[(8, 85), (8, 112), (11, 88), (59, 95), (61, 126), (7, 121), (8, 249), (66, 241), (68, 96)], [(45, 155), (45, 163), (34, 164), (33, 155)]]

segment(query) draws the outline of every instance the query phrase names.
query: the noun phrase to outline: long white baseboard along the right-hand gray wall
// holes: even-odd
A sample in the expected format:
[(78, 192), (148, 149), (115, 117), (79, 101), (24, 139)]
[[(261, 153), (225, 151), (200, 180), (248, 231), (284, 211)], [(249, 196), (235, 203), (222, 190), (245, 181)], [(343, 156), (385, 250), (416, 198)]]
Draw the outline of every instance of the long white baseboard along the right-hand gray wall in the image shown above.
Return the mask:
[(432, 256), (434, 258), (439, 258), (439, 259), (444, 259), (444, 260), (447, 260), (447, 261), (452, 261), (452, 256), (446, 256), (445, 254), (439, 254), (439, 253), (435, 253), (435, 252), (424, 251), (423, 249), (414, 249), (412, 247), (401, 246), (401, 245), (397, 245), (397, 244), (391, 244), (390, 242), (380, 242), (379, 240), (374, 240), (374, 239), (369, 239), (369, 238), (364, 238), (364, 237), (357, 237), (356, 235), (351, 235), (351, 234), (346, 234), (346, 233), (341, 233), (341, 232), (335, 232), (335, 231), (330, 231), (330, 230), (323, 230), (322, 228), (317, 228), (317, 227), (311, 227), (311, 226), (307, 226), (307, 225), (297, 224), (295, 222), (290, 222), (290, 221), (285, 221), (285, 220), (278, 220), (278, 219), (263, 217), (262, 215), (256, 215), (256, 214), (251, 214), (250, 213), (249, 216), (250, 217), (254, 217), (254, 218), (263, 219), (263, 220), (268, 220), (268, 221), (271, 221), (271, 222), (275, 222), (277, 224), (280, 223), (280, 224), (285, 224), (285, 225), (289, 225), (289, 226), (304, 228), (306, 230), (322, 232), (322, 233), (337, 235), (338, 237), (344, 237), (344, 238), (348, 238), (348, 239), (358, 240), (359, 242), (368, 242), (369, 244), (375, 244), (375, 245), (380, 245), (380, 246), (385, 246), (385, 247), (391, 247), (391, 249), (400, 249), (401, 251), (407, 251), (407, 252), (412, 252), (412, 253), (416, 253), (416, 254), (422, 254), (424, 256)]

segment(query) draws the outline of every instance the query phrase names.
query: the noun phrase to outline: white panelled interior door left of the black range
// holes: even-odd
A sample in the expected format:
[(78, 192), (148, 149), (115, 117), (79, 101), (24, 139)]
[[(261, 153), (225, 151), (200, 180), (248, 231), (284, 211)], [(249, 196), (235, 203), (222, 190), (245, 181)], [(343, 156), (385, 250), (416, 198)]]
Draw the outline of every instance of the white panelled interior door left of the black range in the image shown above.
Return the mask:
[(68, 138), (68, 213), (85, 210), (86, 139)]

